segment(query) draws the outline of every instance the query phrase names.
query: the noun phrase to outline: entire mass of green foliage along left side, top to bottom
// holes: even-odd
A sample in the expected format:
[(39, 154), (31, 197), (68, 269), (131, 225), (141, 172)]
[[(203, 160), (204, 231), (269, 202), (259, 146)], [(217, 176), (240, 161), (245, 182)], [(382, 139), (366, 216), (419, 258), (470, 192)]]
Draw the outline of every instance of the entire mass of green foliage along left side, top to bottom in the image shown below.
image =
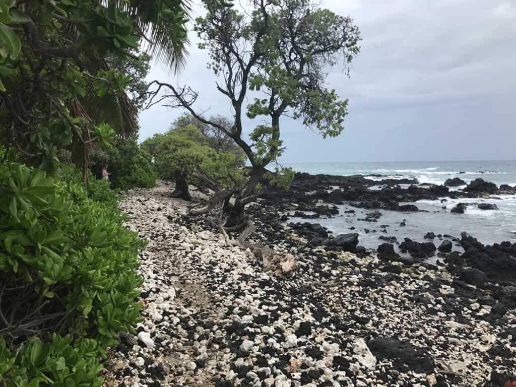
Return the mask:
[[(174, 69), (183, 63), (187, 4), (0, 0), (5, 387), (100, 386), (99, 355), (139, 319), (143, 244), (123, 229), (116, 191), (83, 182), (92, 150), (136, 137), (147, 54)], [(111, 148), (120, 187), (152, 184), (149, 157), (135, 146)]]

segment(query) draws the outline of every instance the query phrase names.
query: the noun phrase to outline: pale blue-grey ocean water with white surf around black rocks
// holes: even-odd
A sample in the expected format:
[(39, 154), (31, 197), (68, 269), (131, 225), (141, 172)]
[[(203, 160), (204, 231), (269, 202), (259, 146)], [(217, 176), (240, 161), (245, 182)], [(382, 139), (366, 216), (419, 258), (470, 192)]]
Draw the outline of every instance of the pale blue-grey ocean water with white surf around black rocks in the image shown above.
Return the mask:
[[(443, 184), (446, 179), (458, 177), (466, 183), (476, 178), (493, 182), (497, 186), (508, 184), (516, 185), (516, 160), (515, 161), (462, 161), (462, 162), (389, 162), (389, 163), (293, 163), (286, 165), (298, 172), (311, 174), (333, 175), (378, 175), (369, 176), (372, 180), (384, 178), (402, 179), (415, 178), (420, 184)], [(379, 187), (372, 187), (372, 189)], [(461, 189), (464, 187), (454, 187)], [(442, 202), (442, 199), (446, 199)], [(498, 210), (481, 210), (477, 206), (468, 206), (464, 214), (450, 213), (458, 202), (466, 203), (492, 203)], [(400, 203), (401, 204), (401, 203)], [(504, 240), (514, 242), (516, 240), (516, 196), (493, 195), (490, 199), (460, 199), (451, 200), (420, 200), (415, 204), (421, 210), (428, 212), (399, 213), (395, 211), (381, 210), (383, 214), (377, 223), (357, 221), (360, 216), (346, 215), (347, 209), (355, 209), (358, 215), (366, 213), (366, 210), (353, 208), (349, 205), (341, 205), (339, 214), (334, 218), (319, 218), (309, 220), (320, 223), (331, 230), (334, 235), (349, 232), (359, 233), (359, 244), (371, 249), (376, 249), (383, 240), (379, 236), (395, 236), (398, 241), (409, 237), (417, 241), (425, 241), (424, 235), (428, 232), (435, 234), (449, 234), (460, 238), (465, 231), (477, 238), (483, 244), (500, 243)], [(405, 219), (406, 226), (399, 227), (399, 223)], [(307, 221), (307, 219), (292, 218), (289, 221)], [(380, 225), (388, 224), (388, 228)], [(351, 231), (352, 230), (352, 231)], [(386, 231), (385, 231), (386, 230)], [(436, 240), (436, 244), (439, 242)], [(460, 248), (456, 248), (460, 250)]]

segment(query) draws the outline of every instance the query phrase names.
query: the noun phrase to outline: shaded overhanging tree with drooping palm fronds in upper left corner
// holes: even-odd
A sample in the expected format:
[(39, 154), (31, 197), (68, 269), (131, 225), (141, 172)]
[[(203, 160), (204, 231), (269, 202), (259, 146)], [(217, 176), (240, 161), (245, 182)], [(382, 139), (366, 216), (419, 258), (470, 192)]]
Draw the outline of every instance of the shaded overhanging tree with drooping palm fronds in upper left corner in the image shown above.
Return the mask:
[[(0, 138), (20, 160), (47, 170), (57, 150), (84, 166), (95, 143), (137, 132), (125, 93), (140, 40), (150, 54), (181, 66), (187, 44), (185, 0), (0, 0)], [(118, 61), (118, 63), (117, 63)], [(107, 102), (111, 103), (107, 103)], [(103, 113), (119, 125), (104, 124)], [(113, 121), (113, 120), (111, 120)]]

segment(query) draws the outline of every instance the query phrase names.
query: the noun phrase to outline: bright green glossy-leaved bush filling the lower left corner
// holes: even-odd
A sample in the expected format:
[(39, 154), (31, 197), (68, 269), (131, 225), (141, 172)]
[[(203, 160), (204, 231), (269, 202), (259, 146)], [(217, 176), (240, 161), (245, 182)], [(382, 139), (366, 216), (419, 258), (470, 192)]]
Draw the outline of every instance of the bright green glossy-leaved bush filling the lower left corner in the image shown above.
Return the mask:
[(143, 241), (122, 227), (107, 182), (92, 180), (86, 190), (80, 173), (62, 172), (58, 180), (0, 164), (0, 381), (7, 386), (100, 386), (96, 357), (139, 321)]

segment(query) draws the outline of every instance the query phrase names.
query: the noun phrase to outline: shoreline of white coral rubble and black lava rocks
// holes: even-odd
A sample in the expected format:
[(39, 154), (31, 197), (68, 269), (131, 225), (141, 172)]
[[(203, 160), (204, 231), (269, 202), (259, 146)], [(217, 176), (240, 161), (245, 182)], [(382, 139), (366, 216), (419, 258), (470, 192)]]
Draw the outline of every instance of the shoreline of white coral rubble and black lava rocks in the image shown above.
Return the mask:
[[(109, 352), (105, 384), (511, 386), (516, 287), (487, 268), (492, 256), (511, 265), (516, 245), (486, 247), (464, 234), (457, 243), (465, 252), (441, 253), (437, 265), (399, 261), (389, 248), (378, 257), (353, 236), (280, 220), (288, 203), (314, 207), (306, 192), (324, 188), (315, 179), (304, 186), (312, 179), (274, 199), (266, 188), (249, 207), (258, 230), (250, 242), (294, 257), (296, 270), (284, 276), (226, 246), (203, 221), (185, 220), (191, 203), (169, 198), (171, 185), (127, 192), (126, 226), (149, 241), (140, 255), (143, 321)], [(421, 195), (442, 188), (430, 189)]]

